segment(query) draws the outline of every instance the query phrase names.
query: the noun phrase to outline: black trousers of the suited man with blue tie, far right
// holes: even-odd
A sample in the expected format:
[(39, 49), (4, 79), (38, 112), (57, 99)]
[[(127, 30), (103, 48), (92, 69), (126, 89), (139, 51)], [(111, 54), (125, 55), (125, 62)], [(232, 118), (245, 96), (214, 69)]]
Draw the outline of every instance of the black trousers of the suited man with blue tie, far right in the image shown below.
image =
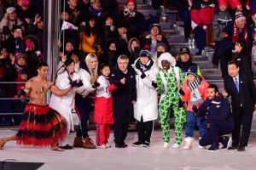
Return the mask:
[[(248, 113), (244, 111), (243, 107), (241, 107), (240, 114), (235, 118), (235, 128), (232, 133), (232, 146), (238, 146), (241, 144), (242, 146), (247, 146), (249, 136), (251, 133), (251, 127), (253, 122), (253, 113)], [(242, 129), (241, 129), (242, 124)]]

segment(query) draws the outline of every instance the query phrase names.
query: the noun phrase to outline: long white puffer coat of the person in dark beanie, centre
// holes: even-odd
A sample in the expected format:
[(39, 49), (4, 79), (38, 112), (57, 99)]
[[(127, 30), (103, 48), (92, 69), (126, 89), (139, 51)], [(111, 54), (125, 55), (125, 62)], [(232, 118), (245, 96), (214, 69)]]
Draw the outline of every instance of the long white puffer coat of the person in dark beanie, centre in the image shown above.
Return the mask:
[[(145, 71), (145, 78), (141, 78), (142, 72), (136, 68), (136, 63), (139, 59), (136, 59), (133, 65), (131, 65), (136, 71), (136, 88), (137, 88), (137, 101), (134, 103), (134, 117), (137, 121), (141, 121), (143, 116), (143, 122), (153, 121), (158, 116), (158, 95), (155, 89), (152, 87), (152, 81), (156, 82), (156, 75), (159, 72), (159, 68), (154, 64), (148, 71)], [(152, 61), (151, 61), (152, 62)]]

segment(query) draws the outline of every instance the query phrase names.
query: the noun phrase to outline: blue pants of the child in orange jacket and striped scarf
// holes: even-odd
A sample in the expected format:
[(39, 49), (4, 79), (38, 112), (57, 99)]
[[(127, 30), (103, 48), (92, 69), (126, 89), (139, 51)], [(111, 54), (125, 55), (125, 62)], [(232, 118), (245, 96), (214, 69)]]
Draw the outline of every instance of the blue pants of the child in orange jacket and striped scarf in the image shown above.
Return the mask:
[(200, 137), (207, 132), (207, 121), (200, 123), (203, 117), (196, 117), (192, 111), (188, 111), (188, 121), (186, 122), (185, 137), (193, 137), (195, 123), (199, 127)]

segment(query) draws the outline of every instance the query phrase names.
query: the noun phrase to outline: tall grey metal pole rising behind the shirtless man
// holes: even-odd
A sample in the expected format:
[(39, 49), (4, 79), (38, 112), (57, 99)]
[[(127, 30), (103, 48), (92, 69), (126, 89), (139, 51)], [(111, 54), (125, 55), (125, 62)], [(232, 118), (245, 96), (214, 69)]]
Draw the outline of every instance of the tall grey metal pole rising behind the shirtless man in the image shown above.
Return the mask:
[[(48, 77), (50, 81), (55, 80), (58, 62), (58, 33), (60, 28), (59, 13), (61, 0), (44, 1), (44, 61), (49, 65)], [(46, 102), (49, 103), (48, 92)]]

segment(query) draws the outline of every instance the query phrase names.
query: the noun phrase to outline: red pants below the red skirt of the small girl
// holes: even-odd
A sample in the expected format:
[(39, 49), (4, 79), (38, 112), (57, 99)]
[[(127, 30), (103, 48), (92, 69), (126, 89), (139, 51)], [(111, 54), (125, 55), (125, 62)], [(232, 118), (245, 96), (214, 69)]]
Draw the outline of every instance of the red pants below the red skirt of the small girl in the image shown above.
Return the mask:
[(100, 146), (108, 143), (110, 125), (96, 124), (96, 144)]

